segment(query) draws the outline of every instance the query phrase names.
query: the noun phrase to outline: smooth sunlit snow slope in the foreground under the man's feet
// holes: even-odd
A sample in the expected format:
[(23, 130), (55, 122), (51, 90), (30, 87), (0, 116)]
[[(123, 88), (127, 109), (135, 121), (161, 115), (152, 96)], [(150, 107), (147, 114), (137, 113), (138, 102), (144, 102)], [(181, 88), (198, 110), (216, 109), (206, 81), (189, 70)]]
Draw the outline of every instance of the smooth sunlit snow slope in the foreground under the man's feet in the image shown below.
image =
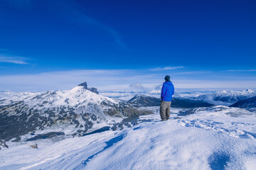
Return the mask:
[(240, 108), (214, 106), (58, 142), (6, 142), (0, 169), (255, 169), (256, 117)]

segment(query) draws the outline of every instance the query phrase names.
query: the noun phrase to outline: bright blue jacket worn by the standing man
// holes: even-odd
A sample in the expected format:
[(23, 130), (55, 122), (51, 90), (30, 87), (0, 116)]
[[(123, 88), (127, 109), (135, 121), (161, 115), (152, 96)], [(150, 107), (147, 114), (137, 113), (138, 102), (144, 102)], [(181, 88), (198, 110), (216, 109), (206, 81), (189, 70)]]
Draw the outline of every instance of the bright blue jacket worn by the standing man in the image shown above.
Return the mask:
[(164, 82), (161, 90), (161, 99), (163, 101), (171, 101), (174, 95), (174, 84), (171, 81)]

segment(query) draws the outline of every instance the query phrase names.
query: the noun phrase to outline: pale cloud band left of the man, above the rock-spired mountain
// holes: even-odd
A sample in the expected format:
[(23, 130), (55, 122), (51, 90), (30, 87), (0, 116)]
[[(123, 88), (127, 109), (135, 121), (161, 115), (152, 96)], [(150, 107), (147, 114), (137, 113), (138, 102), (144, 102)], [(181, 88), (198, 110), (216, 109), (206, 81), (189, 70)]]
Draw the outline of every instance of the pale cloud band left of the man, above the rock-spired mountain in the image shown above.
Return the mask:
[[(139, 91), (163, 81), (163, 77), (142, 74), (138, 70), (87, 69), (40, 74), (0, 75), (0, 91), (46, 91), (72, 89), (87, 81), (99, 91)], [(139, 82), (135, 83), (134, 82)]]

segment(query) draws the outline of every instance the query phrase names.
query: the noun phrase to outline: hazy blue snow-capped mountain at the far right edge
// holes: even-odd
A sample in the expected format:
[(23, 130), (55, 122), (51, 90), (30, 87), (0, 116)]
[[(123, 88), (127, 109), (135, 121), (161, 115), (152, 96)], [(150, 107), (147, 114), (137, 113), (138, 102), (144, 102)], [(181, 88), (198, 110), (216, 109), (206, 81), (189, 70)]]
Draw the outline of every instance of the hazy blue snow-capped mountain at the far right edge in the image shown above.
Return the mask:
[(231, 104), (256, 96), (256, 91), (247, 89), (244, 91), (217, 91), (213, 94), (203, 94), (193, 99), (206, 101), (215, 105), (225, 105), (230, 106)]

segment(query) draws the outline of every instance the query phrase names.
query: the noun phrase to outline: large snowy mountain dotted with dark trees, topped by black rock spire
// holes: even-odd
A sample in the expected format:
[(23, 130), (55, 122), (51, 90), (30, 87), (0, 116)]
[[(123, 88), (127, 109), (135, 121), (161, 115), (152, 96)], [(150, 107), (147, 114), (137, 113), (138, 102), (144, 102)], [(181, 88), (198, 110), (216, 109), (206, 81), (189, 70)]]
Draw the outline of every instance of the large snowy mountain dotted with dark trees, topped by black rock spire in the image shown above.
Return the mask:
[(1, 98), (0, 139), (23, 140), (21, 135), (49, 132), (52, 127), (65, 135), (84, 135), (101, 124), (112, 126), (126, 117), (152, 113), (92, 93), (86, 86), (84, 83), (69, 91), (30, 93), (22, 99), (16, 95)]

